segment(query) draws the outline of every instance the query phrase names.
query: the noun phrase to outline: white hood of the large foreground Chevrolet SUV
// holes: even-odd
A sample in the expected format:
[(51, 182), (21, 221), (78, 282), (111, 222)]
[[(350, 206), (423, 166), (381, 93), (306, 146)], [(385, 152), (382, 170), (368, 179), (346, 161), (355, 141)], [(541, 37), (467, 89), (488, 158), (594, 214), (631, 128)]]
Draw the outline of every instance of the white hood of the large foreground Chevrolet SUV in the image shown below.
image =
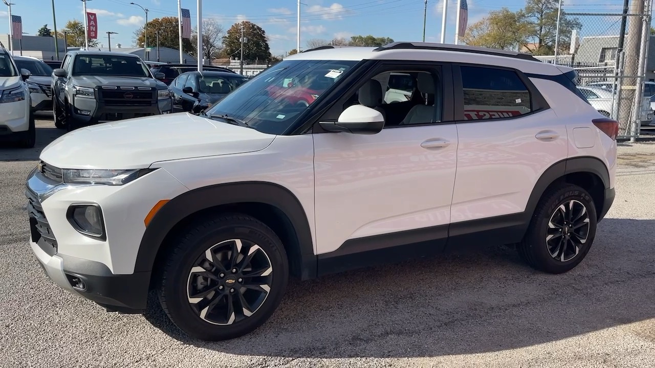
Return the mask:
[(58, 168), (133, 169), (153, 162), (265, 149), (274, 135), (189, 113), (105, 122), (52, 141), (41, 160)]

